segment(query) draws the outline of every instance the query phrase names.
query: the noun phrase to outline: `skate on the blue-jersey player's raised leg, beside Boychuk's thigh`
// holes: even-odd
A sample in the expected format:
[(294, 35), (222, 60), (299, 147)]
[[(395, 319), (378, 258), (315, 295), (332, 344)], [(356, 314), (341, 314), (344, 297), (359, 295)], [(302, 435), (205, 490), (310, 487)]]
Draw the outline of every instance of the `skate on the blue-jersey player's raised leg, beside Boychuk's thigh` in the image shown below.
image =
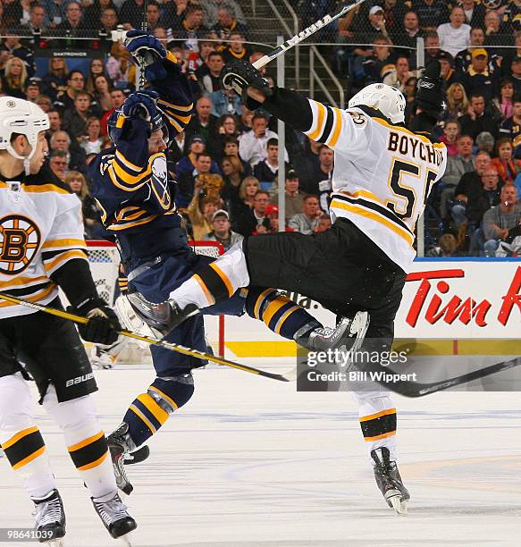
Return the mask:
[(307, 349), (341, 349), (355, 352), (362, 345), (368, 326), (369, 314), (359, 311), (354, 317), (342, 317), (334, 329), (316, 328), (306, 339), (296, 336), (295, 340)]

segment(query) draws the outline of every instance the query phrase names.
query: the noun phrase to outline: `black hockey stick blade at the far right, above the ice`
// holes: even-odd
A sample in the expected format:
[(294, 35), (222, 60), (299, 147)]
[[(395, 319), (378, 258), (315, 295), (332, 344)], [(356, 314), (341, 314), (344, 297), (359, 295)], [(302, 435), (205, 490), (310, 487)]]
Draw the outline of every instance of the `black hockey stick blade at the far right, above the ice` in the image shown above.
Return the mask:
[[(473, 382), (474, 380), (479, 380), (485, 376), (490, 376), (491, 374), (497, 374), (509, 368), (514, 368), (515, 366), (521, 366), (521, 357), (509, 359), (508, 361), (501, 361), (500, 363), (495, 363), (494, 365), (485, 366), (479, 370), (473, 372), (462, 374), (461, 376), (456, 376), (455, 378), (450, 378), (449, 380), (440, 380), (439, 382), (433, 383), (417, 383), (417, 382), (407, 382), (399, 381), (395, 383), (379, 382), (384, 385), (388, 390), (399, 393), (404, 397), (424, 397), (425, 395), (431, 395), (438, 391), (449, 390), (452, 387), (461, 385), (462, 383)], [(384, 369), (389, 374), (394, 374), (391, 369)]]

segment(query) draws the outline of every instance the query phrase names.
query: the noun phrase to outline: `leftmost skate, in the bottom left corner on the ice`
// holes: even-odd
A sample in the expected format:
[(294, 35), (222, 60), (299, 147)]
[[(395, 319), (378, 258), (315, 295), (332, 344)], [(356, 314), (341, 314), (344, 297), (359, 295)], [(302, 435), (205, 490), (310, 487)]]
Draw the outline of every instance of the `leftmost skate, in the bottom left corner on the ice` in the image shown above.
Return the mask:
[(38, 542), (52, 547), (62, 547), (65, 535), (65, 513), (60, 492), (53, 490), (45, 498), (33, 498), (36, 516), (35, 528)]

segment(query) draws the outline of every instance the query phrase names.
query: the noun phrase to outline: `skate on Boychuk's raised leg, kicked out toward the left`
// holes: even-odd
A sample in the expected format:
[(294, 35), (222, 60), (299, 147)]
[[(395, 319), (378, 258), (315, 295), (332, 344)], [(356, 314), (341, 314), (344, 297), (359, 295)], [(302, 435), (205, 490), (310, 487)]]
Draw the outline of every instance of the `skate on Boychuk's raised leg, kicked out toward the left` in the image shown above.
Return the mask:
[(165, 302), (149, 302), (140, 292), (131, 292), (127, 295), (130, 305), (143, 321), (162, 336), (172, 331), (178, 324), (199, 313), (195, 304), (179, 307), (174, 300)]

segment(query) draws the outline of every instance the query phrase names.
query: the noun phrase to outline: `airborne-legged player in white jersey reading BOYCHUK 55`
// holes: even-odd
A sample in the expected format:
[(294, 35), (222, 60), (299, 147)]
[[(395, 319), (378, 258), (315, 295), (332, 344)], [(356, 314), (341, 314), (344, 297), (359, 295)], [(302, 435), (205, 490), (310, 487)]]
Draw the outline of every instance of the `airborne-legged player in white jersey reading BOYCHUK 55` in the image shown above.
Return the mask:
[[(440, 63), (430, 63), (418, 80), (412, 130), (404, 126), (405, 97), (380, 83), (363, 88), (340, 110), (289, 89), (268, 88), (250, 63), (239, 60), (224, 69), (223, 87), (249, 109), (262, 105), (334, 150), (332, 228), (249, 237), (173, 290), (168, 302), (141, 299), (147, 314), (163, 319), (167, 330), (241, 287), (272, 286), (298, 291), (344, 318), (359, 321), (368, 312), (366, 344), (390, 349), (406, 273), (416, 257), (416, 221), (447, 162), (445, 146), (433, 137), (444, 107)], [(390, 507), (404, 514), (409, 494), (396, 464), (396, 408), (383, 387), (355, 386), (351, 393), (376, 482)]]

